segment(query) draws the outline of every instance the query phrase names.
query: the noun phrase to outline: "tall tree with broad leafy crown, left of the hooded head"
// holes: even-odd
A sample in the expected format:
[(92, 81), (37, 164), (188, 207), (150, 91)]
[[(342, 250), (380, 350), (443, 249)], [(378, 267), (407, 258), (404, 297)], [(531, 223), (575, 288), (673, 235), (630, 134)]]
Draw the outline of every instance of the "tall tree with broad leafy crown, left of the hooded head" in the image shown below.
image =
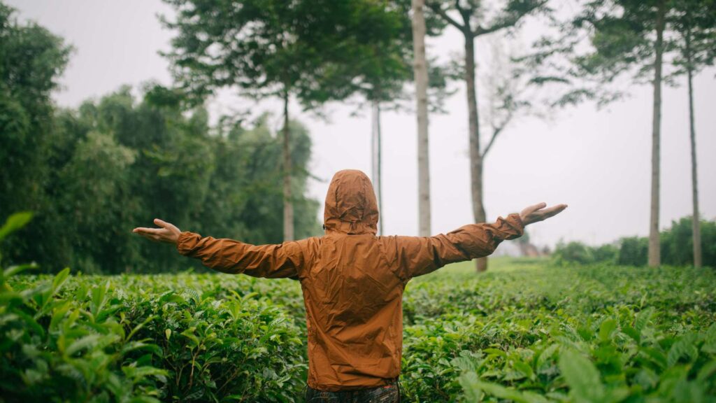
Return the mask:
[(354, 70), (345, 66), (364, 57), (359, 39), (382, 31), (382, 14), (369, 0), (165, 1), (177, 10), (175, 21), (165, 21), (178, 32), (168, 57), (186, 90), (201, 98), (238, 87), (257, 100), (281, 99), (284, 239), (294, 239), (290, 101), (315, 110), (354, 93)]

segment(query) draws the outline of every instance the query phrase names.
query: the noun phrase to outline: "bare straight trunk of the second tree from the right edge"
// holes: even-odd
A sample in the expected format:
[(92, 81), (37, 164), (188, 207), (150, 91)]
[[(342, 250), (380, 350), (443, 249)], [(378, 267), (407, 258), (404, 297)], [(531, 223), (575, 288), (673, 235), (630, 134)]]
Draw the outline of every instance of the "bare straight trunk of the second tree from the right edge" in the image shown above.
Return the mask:
[(656, 60), (654, 60), (654, 115), (652, 121), (652, 207), (649, 220), (649, 266), (661, 264), (661, 248), (659, 245), (659, 159), (661, 147), (662, 120), (662, 53), (664, 52), (664, 0), (659, 1), (657, 11), (657, 42), (655, 44)]

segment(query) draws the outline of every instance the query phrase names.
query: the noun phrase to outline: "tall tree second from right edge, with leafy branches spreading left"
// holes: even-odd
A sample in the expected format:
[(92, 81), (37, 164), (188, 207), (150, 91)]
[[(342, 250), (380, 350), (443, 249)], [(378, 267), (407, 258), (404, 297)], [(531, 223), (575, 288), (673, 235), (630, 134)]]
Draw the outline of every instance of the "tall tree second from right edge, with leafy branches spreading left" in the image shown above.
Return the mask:
[[(672, 24), (667, 24), (672, 6), (666, 0), (586, 1), (575, 16), (561, 23), (557, 39), (542, 38), (537, 42), (540, 50), (533, 57), (536, 65), (548, 67), (546, 72), (538, 73), (534, 82), (556, 82), (567, 87), (553, 105), (583, 100), (604, 105), (619, 100), (625, 93), (624, 82), (619, 80), (623, 76), (637, 83), (647, 80), (652, 85), (650, 266), (660, 263), (662, 70), (664, 53), (672, 48), (665, 35), (672, 29)], [(584, 37), (589, 38), (587, 46)]]

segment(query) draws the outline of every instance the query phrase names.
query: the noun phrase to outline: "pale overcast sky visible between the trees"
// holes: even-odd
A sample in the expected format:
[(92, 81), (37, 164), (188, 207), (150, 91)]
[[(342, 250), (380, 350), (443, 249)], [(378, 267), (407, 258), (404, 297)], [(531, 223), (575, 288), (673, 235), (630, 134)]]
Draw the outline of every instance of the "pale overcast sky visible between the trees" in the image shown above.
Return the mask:
[[(76, 107), (120, 85), (147, 80), (171, 83), (167, 61), (171, 32), (158, 14), (172, 14), (159, 0), (10, 0), (21, 19), (33, 19), (75, 48), (62, 85), (54, 96)], [(533, 29), (534, 31), (534, 29)], [(523, 33), (530, 43), (529, 27)], [(462, 52), (454, 29), (430, 39), (428, 53), (445, 60)], [(482, 49), (482, 52), (479, 50)], [(478, 75), (485, 65), (478, 49)], [(716, 80), (715, 70), (695, 79), (698, 174), (702, 217), (716, 216)], [(472, 221), (468, 171), (468, 115), (463, 85), (445, 104), (448, 113), (430, 115), (432, 232), (448, 232)], [(211, 104), (213, 116), (241, 110), (251, 102), (223, 94)], [(258, 109), (277, 114), (278, 103)], [(298, 111), (298, 105), (294, 106)], [(297, 114), (314, 142), (310, 169), (324, 181), (312, 181), (310, 193), (324, 199), (328, 181), (340, 169), (370, 174), (370, 115), (354, 117), (354, 107), (328, 105), (329, 121)], [(664, 87), (662, 106), (661, 227), (692, 213), (688, 104), (685, 87)], [(415, 115), (384, 113), (383, 204), (386, 234), (417, 234), (417, 138)], [(622, 236), (647, 235), (649, 224), (652, 89), (634, 87), (632, 97), (606, 110), (581, 105), (549, 120), (522, 118), (505, 129), (485, 160), (488, 220), (518, 212), (528, 204), (566, 203), (569, 209), (549, 222), (529, 227), (533, 242), (558, 240), (589, 244)], [(322, 209), (319, 212), (322, 219)], [(164, 217), (171, 220), (171, 217)]]

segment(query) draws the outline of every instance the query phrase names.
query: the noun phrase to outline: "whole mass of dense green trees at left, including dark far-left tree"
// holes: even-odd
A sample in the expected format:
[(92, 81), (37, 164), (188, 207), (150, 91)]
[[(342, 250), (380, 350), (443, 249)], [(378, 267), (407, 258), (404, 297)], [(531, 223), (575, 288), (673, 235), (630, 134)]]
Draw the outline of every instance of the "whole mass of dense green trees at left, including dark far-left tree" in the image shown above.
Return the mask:
[[(56, 110), (49, 93), (67, 62), (62, 40), (16, 24), (1, 4), (0, 39), (0, 219), (35, 212), (0, 245), (6, 260), (39, 260), (48, 272), (168, 270), (179, 257), (131, 232), (155, 217), (281, 242), (281, 142), (266, 115), (211, 127), (205, 110), (187, 113), (180, 95), (156, 85), (140, 99), (123, 87)], [(318, 204), (305, 196), (311, 141), (299, 123), (291, 131), (296, 236), (307, 237), (320, 230)]]

